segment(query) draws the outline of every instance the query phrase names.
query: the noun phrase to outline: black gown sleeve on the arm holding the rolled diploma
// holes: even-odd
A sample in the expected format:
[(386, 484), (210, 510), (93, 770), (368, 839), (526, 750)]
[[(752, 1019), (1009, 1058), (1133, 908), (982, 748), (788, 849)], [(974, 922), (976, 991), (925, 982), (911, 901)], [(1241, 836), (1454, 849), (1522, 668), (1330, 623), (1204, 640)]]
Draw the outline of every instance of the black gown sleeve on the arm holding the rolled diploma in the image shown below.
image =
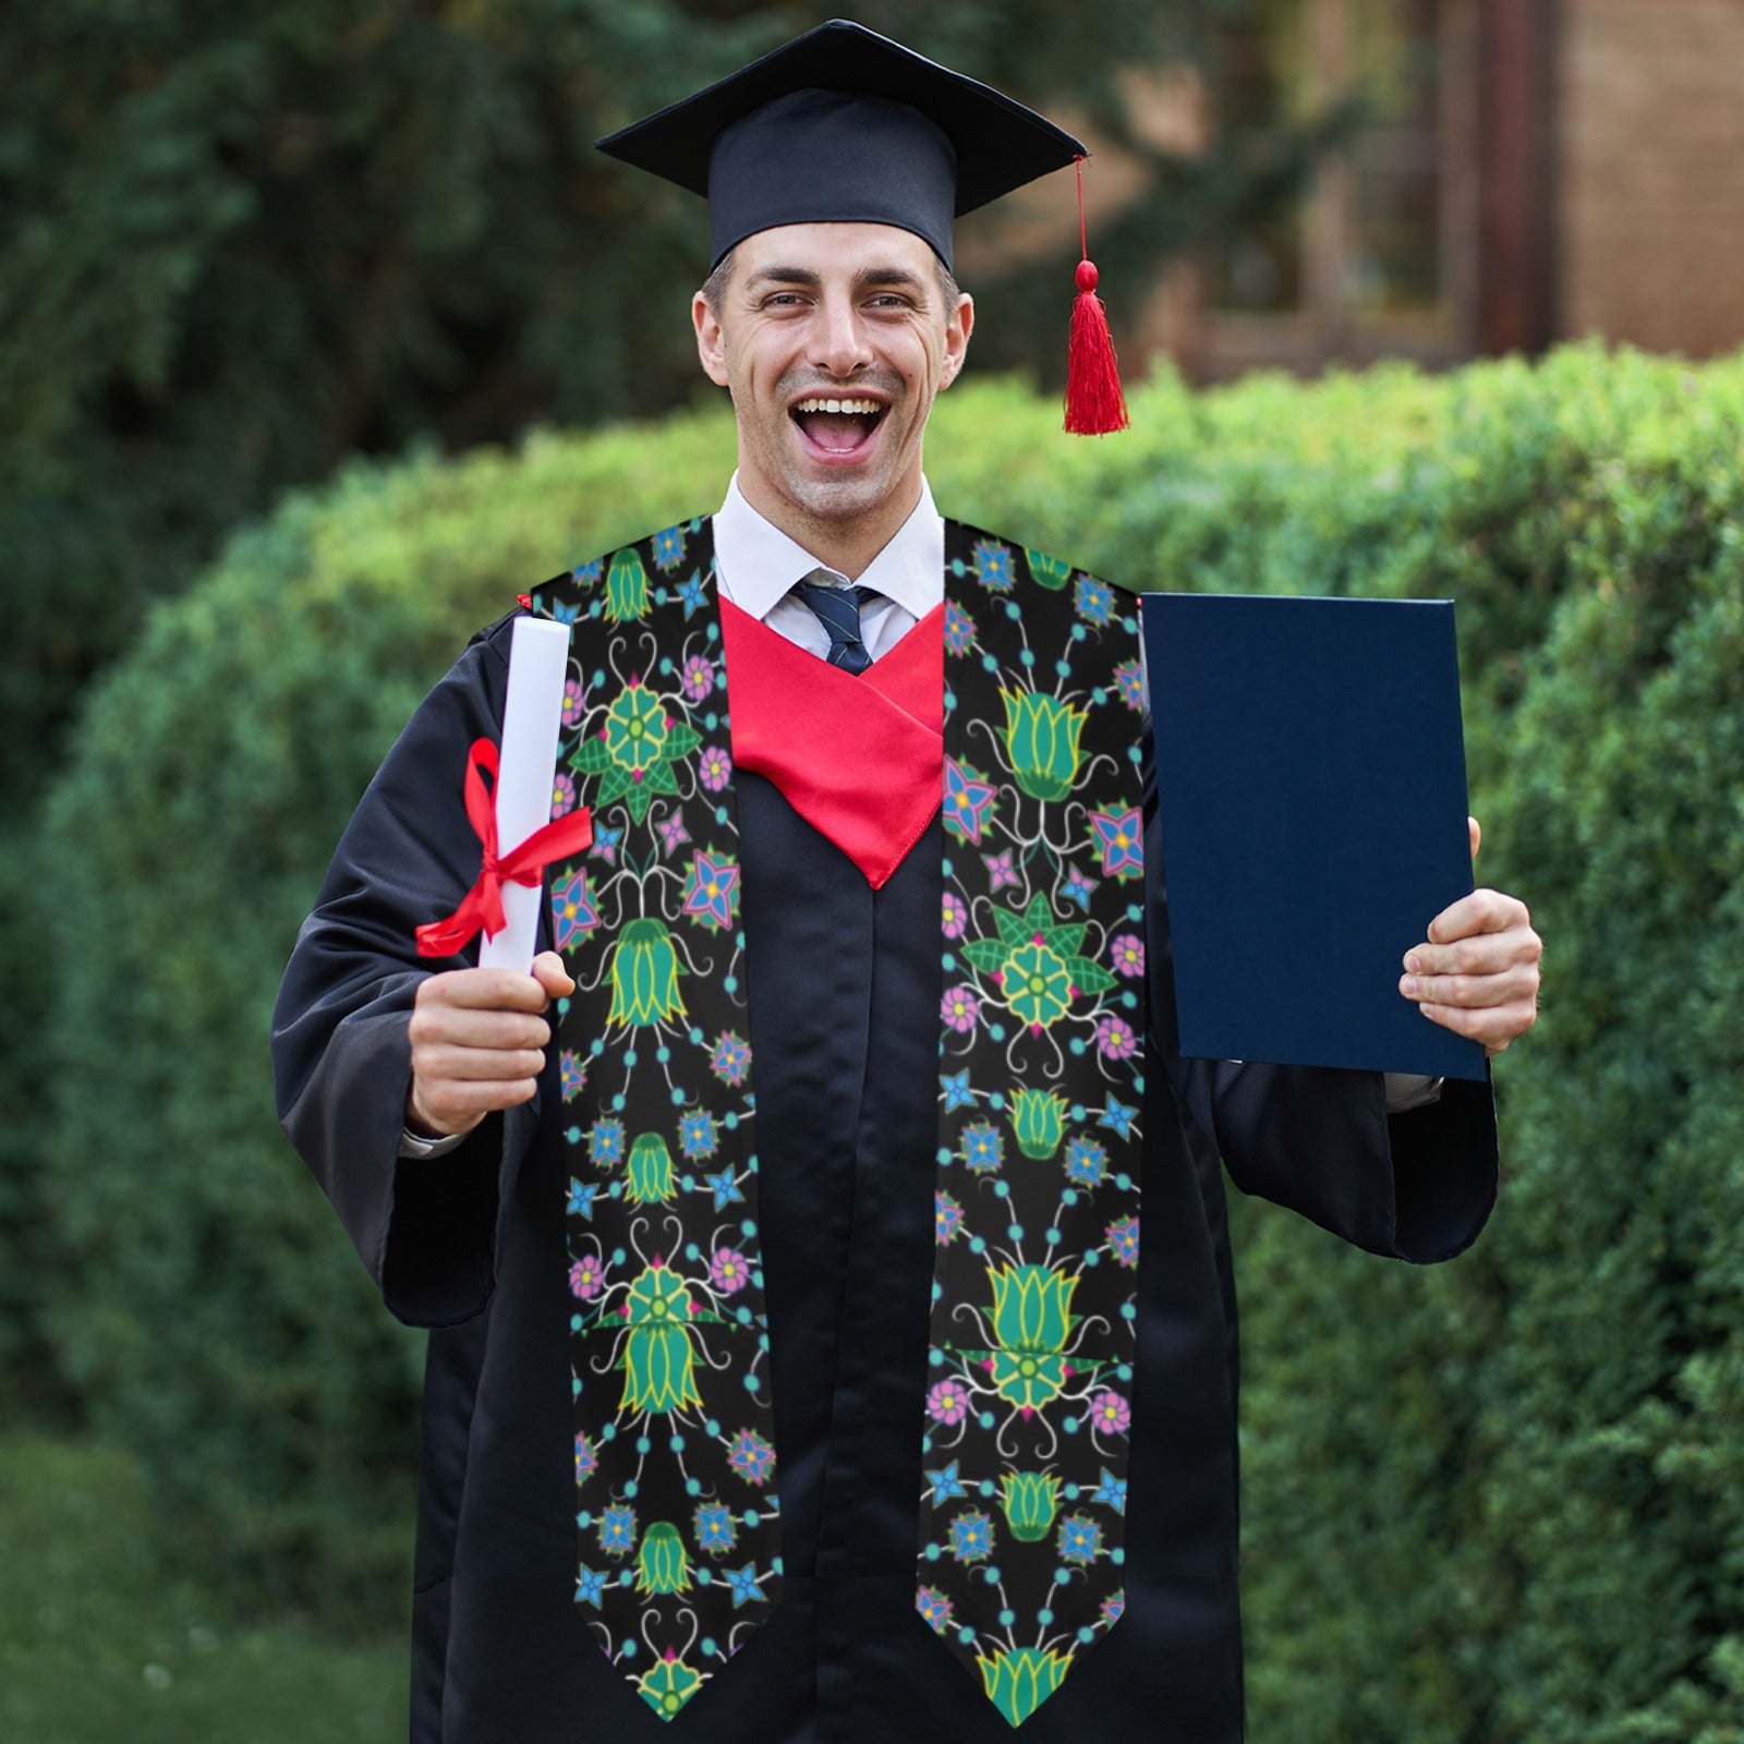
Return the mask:
[(419, 982), (459, 957), (417, 954), (478, 875), (466, 753), (501, 738), (506, 617), (424, 699), (352, 814), (303, 923), (272, 1015), (279, 1120), (344, 1223), (387, 1308), (457, 1325), (494, 1285), (499, 1174), (534, 1106), (492, 1116), (443, 1156), (401, 1158)]

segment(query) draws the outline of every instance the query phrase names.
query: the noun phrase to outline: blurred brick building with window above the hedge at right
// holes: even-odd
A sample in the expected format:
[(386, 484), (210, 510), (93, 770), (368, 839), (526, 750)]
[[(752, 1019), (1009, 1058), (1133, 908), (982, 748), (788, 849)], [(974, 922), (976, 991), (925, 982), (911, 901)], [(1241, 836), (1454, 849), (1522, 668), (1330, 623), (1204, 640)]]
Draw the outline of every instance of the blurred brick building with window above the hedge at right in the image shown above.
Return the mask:
[(1744, 0), (1252, 0), (1158, 127), (1263, 134), (1353, 91), (1355, 143), (1170, 272), (1128, 345), (1216, 380), (1744, 344)]

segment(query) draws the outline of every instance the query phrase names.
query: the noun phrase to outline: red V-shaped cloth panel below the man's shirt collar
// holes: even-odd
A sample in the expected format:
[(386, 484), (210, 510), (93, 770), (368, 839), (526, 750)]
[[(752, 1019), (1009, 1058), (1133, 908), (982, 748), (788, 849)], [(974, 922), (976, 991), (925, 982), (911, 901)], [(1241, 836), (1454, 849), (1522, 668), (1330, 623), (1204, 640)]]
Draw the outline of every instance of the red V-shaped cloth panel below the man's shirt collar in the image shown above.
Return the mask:
[(767, 776), (879, 889), (944, 795), (945, 609), (855, 677), (720, 602), (732, 760)]

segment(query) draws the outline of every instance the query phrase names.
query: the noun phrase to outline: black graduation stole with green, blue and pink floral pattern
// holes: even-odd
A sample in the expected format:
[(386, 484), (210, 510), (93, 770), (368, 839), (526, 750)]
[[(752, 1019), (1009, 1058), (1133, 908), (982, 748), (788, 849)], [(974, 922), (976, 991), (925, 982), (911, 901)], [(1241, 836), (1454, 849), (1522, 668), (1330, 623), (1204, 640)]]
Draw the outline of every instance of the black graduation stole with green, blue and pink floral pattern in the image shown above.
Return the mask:
[[(576, 626), (553, 813), (576, 992), (576, 1603), (673, 1718), (780, 1598), (713, 535), (534, 595)], [(1121, 1610), (1144, 907), (1130, 600), (945, 528), (937, 1270), (917, 1608), (1020, 1725)]]

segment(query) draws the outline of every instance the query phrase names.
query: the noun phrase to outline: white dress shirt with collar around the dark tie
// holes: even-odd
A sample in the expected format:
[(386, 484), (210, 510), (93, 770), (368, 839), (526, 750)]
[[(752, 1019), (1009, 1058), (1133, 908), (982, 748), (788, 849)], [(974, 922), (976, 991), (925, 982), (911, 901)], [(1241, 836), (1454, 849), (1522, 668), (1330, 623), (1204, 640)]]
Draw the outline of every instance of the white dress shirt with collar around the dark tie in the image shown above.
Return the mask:
[[(794, 593), (794, 582), (807, 577), (832, 586), (849, 586), (846, 576), (832, 570), (828, 563), (820, 563), (804, 546), (759, 514), (745, 501), (739, 474), (734, 473), (727, 485), (727, 499), (715, 516), (715, 579), (720, 596), (823, 659), (830, 652), (830, 633), (818, 614)], [(860, 637), (872, 659), (888, 654), (944, 600), (945, 521), (933, 506), (933, 492), (924, 478), (914, 513), (856, 577), (856, 584), (872, 588), (877, 595), (860, 609)], [(1439, 1078), (1386, 1073), (1390, 1114), (1423, 1107), (1439, 1095)], [(459, 1142), (460, 1137), (426, 1139), (408, 1128), (399, 1141), (399, 1155), (441, 1156)]]

